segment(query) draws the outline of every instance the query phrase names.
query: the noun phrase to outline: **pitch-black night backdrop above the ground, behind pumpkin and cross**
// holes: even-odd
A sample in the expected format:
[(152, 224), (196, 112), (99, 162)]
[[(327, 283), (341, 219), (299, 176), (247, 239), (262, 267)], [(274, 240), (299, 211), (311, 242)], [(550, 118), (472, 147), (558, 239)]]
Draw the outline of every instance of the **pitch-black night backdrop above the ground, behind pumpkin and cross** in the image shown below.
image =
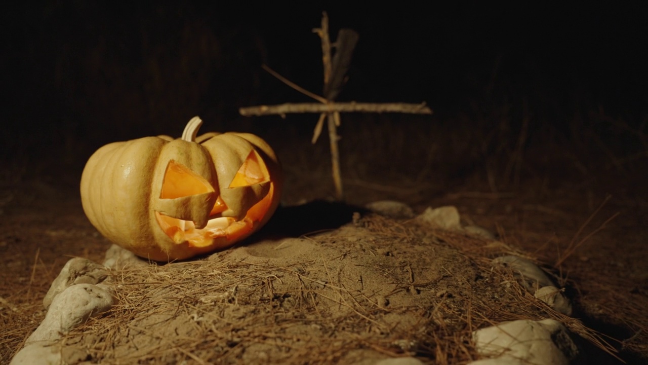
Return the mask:
[[(524, 148), (587, 142), (587, 129), (601, 138), (585, 150), (645, 151), (636, 138), (648, 115), (638, 3), (307, 3), (36, 1), (6, 9), (5, 166), (26, 175), (47, 166), (80, 171), (100, 145), (179, 136), (194, 115), (205, 120), (203, 131), (252, 131), (281, 144), (280, 155), (310, 154), (295, 141), (308, 142), (316, 115), (242, 118), (238, 108), (309, 101), (262, 63), (321, 92), (321, 46), (312, 29), (322, 10), (332, 40), (340, 27), (360, 34), (339, 100), (426, 101), (435, 113), (344, 116), (347, 153), (372, 140), (365, 160), (383, 159), (372, 151), (392, 144), (393, 151), (410, 148), (401, 152), (411, 160), (437, 145), (466, 171), (493, 153), (511, 153), (524, 118)], [(450, 135), (461, 143), (443, 145)], [(319, 145), (315, 151), (327, 151), (326, 142)]]

